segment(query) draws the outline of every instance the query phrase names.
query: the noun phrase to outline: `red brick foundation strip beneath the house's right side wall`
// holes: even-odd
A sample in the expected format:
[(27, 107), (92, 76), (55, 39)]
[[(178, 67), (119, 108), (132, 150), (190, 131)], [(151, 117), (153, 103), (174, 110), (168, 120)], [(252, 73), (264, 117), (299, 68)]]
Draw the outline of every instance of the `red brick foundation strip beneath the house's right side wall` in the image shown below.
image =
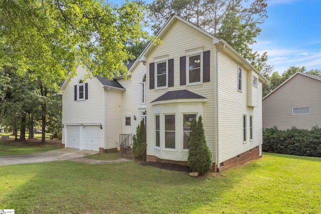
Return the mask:
[(243, 152), (235, 157), (232, 157), (228, 160), (225, 160), (220, 163), (217, 169), (217, 171), (222, 171), (227, 168), (231, 168), (233, 166), (237, 165), (242, 165), (243, 163), (249, 161), (249, 160), (254, 160), (256, 158), (260, 157), (260, 147), (256, 146), (250, 150), (247, 150), (246, 152)]

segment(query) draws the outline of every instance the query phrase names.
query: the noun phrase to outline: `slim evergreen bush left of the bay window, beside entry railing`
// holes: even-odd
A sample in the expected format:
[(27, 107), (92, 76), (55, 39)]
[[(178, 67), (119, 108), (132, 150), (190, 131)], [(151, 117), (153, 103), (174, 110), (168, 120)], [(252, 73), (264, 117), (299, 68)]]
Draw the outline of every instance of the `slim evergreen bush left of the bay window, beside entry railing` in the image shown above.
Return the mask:
[(136, 159), (146, 160), (146, 129), (144, 121), (140, 121), (140, 125), (136, 128), (136, 134), (132, 136), (132, 153)]

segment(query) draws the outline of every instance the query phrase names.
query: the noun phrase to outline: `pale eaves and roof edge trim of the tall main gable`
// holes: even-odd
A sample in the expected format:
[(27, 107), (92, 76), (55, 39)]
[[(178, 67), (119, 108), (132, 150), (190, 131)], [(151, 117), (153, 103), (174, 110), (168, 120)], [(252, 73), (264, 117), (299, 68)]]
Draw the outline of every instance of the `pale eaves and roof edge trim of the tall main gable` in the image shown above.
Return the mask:
[[(203, 29), (197, 27), (193, 23), (183, 19), (182, 17), (173, 14), (170, 19), (167, 20), (167, 22), (163, 25), (163, 27), (157, 32), (155, 35), (156, 38), (161, 38), (166, 32), (169, 30), (169, 28), (174, 24), (176, 20), (179, 20), (188, 26), (194, 28), (195, 30), (205, 34), (206, 36), (212, 38), (213, 40), (213, 45), (218, 46), (218, 48), (226, 48), (228, 50), (230, 55), (233, 55), (235, 58), (237, 58), (239, 61), (242, 62), (242, 66), (245, 66), (247, 69), (253, 70), (255, 73), (259, 75), (259, 79), (263, 82), (268, 82), (268, 80), (256, 69), (254, 66), (249, 63), (244, 57), (242, 57), (237, 51), (235, 51), (229, 44), (227, 44), (224, 40), (221, 40), (214, 35), (204, 31)], [(139, 62), (146, 62), (146, 55), (153, 49), (154, 45), (152, 42), (149, 42), (146, 48), (141, 52), (141, 54), (137, 57), (133, 65), (130, 67), (129, 72), (132, 72), (133, 69), (136, 67), (136, 65)]]

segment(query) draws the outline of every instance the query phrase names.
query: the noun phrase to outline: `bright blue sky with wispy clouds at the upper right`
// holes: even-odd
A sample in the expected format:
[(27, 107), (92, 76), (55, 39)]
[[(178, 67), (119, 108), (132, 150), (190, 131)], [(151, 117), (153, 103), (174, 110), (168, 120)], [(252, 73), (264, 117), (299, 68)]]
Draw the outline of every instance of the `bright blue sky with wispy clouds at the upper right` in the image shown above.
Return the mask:
[[(109, 2), (120, 5), (125, 1)], [(253, 51), (266, 51), (267, 63), (280, 74), (290, 66), (321, 70), (321, 1), (267, 0), (267, 4), (268, 18), (260, 25), (262, 32)]]

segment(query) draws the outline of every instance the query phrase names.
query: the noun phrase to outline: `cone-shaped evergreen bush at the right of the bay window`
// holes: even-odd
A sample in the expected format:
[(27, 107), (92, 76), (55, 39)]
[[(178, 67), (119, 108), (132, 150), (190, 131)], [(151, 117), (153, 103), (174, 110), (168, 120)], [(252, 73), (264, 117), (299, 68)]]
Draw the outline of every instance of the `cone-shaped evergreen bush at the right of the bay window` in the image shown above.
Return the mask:
[(212, 153), (205, 140), (202, 116), (199, 117), (198, 122), (196, 120), (192, 122), (189, 145), (189, 156), (187, 159), (189, 167), (200, 174), (209, 172), (213, 164)]

